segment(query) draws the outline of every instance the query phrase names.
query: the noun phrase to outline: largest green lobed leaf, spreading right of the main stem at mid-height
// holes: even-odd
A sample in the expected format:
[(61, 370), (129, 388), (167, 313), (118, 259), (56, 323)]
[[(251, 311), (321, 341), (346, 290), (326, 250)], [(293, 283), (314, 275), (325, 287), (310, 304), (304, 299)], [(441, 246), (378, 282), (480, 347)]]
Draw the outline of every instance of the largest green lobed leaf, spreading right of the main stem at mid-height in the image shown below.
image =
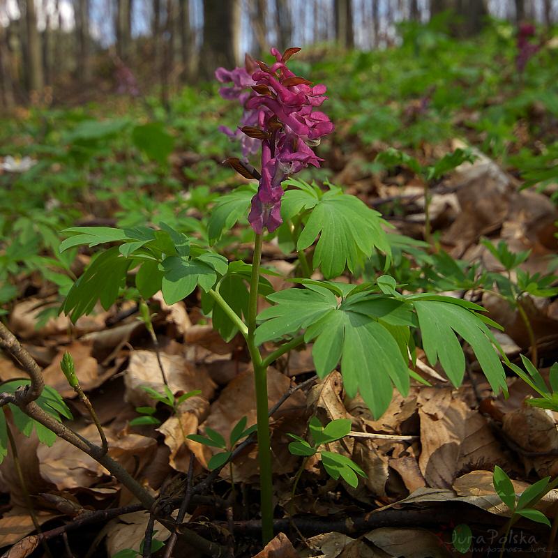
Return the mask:
[[(357, 300), (354, 305), (359, 312), (354, 311), (351, 303), (347, 302), (351, 297), (338, 307), (333, 292), (312, 284), (306, 290), (286, 289), (268, 296), (268, 299), (275, 302), (276, 306), (266, 308), (258, 315), (258, 321), (266, 321), (256, 329), (257, 345), (306, 329), (306, 342), (315, 340), (312, 356), (317, 374), (326, 376), (341, 360), (347, 395), (354, 398), (356, 392), (360, 391), (376, 417), (391, 402), (392, 381), (402, 394), (407, 394), (407, 356), (402, 354), (398, 340), (386, 327), (375, 317), (361, 313), (364, 308), (359, 308), (358, 302), (363, 301)], [(401, 312), (400, 308), (405, 303), (395, 301), (390, 309), (383, 299), (378, 300), (384, 306), (378, 313), (386, 318), (391, 310), (394, 321), (400, 323), (405, 313), (398, 316), (398, 312)], [(370, 301), (366, 303), (370, 304)], [(301, 308), (304, 308), (304, 312), (301, 312)], [(404, 312), (409, 313), (409, 310), (405, 308)], [(407, 323), (412, 323), (412, 319), (407, 319)]]

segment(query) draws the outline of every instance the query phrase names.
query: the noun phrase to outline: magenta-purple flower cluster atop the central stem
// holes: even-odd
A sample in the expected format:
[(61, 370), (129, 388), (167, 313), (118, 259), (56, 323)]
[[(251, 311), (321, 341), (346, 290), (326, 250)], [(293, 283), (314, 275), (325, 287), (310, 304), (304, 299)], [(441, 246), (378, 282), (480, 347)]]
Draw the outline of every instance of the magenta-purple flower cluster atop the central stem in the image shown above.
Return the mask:
[(327, 99), (326, 86), (312, 87), (311, 82), (287, 68), (287, 60), (299, 50), (289, 48), (280, 54), (277, 49), (271, 49), (277, 60), (271, 67), (247, 56), (244, 68), (216, 71), (220, 82), (232, 82), (232, 87), (221, 87), (220, 95), (239, 100), (244, 107), (241, 126), (236, 132), (226, 126), (220, 126), (220, 130), (229, 137), (241, 137), (245, 162), (262, 144), (262, 173), (248, 216), (258, 234), (264, 228), (273, 232), (282, 223), (282, 181), (308, 165), (319, 168), (323, 159), (316, 156), (312, 147), (334, 128), (329, 116), (315, 110)]

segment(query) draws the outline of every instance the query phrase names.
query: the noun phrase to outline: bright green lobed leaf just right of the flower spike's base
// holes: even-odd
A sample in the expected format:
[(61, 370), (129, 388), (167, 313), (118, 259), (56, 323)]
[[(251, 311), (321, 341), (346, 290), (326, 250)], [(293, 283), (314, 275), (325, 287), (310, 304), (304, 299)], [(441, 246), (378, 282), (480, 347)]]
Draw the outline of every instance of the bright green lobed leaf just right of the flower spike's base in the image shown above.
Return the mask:
[(312, 266), (319, 266), (326, 279), (340, 276), (345, 267), (353, 272), (374, 248), (388, 255), (390, 251), (380, 214), (357, 197), (331, 188), (312, 209), (296, 245), (305, 250), (319, 235)]

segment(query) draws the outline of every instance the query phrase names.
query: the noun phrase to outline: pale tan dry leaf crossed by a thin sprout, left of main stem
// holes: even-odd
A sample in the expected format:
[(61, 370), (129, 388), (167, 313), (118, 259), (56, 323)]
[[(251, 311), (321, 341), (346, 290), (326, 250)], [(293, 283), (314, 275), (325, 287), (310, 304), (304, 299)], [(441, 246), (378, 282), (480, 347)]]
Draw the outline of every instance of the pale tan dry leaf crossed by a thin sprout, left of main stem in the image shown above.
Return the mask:
[[(161, 361), (172, 393), (186, 393), (201, 389), (207, 400), (213, 397), (215, 384), (208, 375), (200, 375), (192, 363), (179, 355), (161, 354)], [(128, 368), (124, 371), (126, 394), (124, 400), (135, 407), (154, 407), (154, 400), (142, 386), (150, 387), (165, 395), (165, 384), (157, 361), (157, 355), (151, 351), (133, 351), (130, 353)]]

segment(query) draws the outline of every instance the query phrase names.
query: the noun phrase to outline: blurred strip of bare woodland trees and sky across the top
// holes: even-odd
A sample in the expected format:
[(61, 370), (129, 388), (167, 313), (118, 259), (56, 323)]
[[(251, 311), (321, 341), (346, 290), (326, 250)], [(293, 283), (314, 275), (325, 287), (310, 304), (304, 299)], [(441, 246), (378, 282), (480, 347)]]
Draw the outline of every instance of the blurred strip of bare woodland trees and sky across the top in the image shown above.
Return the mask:
[(164, 98), (244, 52), (386, 48), (399, 22), (442, 12), (448, 33), (467, 37), (487, 15), (555, 23), (558, 0), (0, 0), (0, 110), (80, 102), (122, 80), (128, 92), (159, 84)]

